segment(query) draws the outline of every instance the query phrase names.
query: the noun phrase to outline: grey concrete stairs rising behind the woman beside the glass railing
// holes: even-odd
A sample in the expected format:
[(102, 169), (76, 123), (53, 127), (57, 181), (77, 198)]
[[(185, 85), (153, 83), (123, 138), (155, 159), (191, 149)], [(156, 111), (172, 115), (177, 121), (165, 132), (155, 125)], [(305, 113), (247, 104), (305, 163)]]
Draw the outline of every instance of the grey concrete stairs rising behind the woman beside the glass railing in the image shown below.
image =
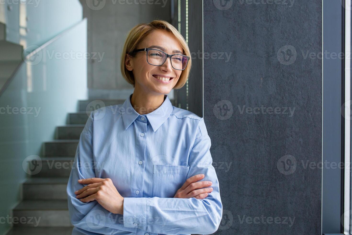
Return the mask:
[[(103, 100), (106, 106), (122, 104), (125, 100)], [(40, 221), (29, 224), (13, 224), (7, 235), (19, 234), (71, 234), (67, 207), (66, 186), (71, 172), (77, 144), (87, 122), (87, 105), (95, 101), (79, 101), (79, 111), (68, 114), (68, 124), (57, 126), (57, 139), (44, 142), (44, 154), (41, 157), (42, 169), (31, 175), (22, 185), (23, 201), (13, 209), (14, 217), (36, 217)], [(171, 100), (174, 105), (174, 100)], [(55, 165), (57, 164), (57, 165)], [(60, 166), (60, 167), (54, 167)], [(33, 220), (34, 221), (34, 220)]]

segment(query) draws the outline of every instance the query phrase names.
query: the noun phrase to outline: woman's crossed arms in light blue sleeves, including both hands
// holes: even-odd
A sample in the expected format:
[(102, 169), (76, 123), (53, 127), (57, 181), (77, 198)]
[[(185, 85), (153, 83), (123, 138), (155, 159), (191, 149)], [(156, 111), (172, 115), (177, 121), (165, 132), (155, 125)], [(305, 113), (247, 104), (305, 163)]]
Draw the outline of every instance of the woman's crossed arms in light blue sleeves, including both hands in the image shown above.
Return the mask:
[[(93, 161), (92, 136), (87, 130), (81, 134), (74, 161), (76, 167), (67, 186), (74, 226), (96, 232), (89, 219), (102, 217), (99, 233), (103, 234), (112, 234), (116, 229), (135, 232), (136, 228), (161, 234), (212, 234), (218, 229), (222, 203), (206, 132), (197, 134), (189, 155), (188, 179), (174, 198), (124, 198), (110, 179), (95, 178), (94, 168), (83, 171), (78, 167), (79, 163)], [(78, 182), (78, 179), (82, 180)], [(82, 185), (86, 186), (82, 188)], [(123, 216), (123, 222), (118, 223), (113, 216)], [(151, 222), (155, 218), (162, 218), (164, 223)]]

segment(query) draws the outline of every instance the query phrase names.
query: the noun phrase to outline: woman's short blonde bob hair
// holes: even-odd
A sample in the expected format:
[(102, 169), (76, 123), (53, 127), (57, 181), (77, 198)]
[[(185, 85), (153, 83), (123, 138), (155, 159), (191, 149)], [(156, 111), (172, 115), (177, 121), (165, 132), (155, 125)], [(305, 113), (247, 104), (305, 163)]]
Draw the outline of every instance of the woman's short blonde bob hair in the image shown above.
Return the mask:
[(121, 73), (122, 76), (126, 79), (126, 81), (133, 85), (135, 84), (134, 76), (132, 71), (129, 71), (126, 66), (126, 54), (132, 54), (133, 50), (138, 49), (137, 46), (143, 39), (149, 35), (149, 33), (153, 32), (156, 29), (162, 29), (168, 32), (171, 32), (177, 39), (177, 41), (181, 44), (183, 48), (183, 55), (187, 55), (190, 57), (188, 64), (180, 75), (174, 89), (180, 89), (186, 84), (189, 72), (191, 69), (191, 53), (189, 51), (188, 45), (184, 38), (182, 37), (181, 33), (178, 32), (174, 26), (168, 23), (165, 20), (153, 20), (149, 24), (138, 24), (134, 26), (128, 33), (127, 38), (125, 41), (124, 49), (122, 50), (121, 55)]

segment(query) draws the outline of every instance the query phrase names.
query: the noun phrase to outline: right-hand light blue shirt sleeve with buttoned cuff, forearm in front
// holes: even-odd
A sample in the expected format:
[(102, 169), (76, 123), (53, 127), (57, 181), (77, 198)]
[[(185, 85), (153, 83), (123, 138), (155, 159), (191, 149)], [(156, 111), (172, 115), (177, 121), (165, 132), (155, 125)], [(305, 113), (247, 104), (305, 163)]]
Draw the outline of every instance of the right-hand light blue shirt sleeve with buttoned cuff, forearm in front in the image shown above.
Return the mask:
[(205, 199), (133, 198), (124, 199), (125, 228), (139, 228), (161, 234), (212, 234), (222, 218), (219, 181), (212, 166), (210, 137), (203, 118), (199, 122), (193, 148), (189, 154), (187, 178), (205, 174), (213, 191)]

